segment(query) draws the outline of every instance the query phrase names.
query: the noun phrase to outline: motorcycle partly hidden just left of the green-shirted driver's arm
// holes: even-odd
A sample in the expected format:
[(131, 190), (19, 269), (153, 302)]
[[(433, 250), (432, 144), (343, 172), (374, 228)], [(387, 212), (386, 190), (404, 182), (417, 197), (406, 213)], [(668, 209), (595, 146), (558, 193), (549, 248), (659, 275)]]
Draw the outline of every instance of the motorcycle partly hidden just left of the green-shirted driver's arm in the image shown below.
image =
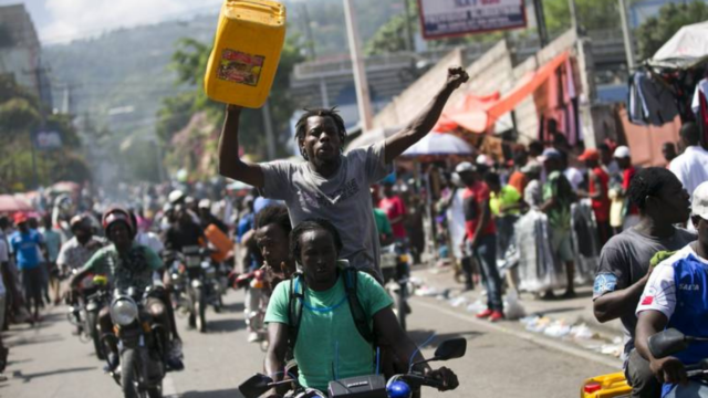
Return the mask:
[(249, 303), (251, 300), (258, 301), (257, 311), (249, 311), (249, 305), (247, 305), (246, 325), (250, 331), (258, 334), (258, 341), (260, 342), (261, 350), (264, 353), (268, 350), (269, 346), (268, 326), (263, 322), (263, 320), (266, 318), (266, 310), (268, 308), (268, 294), (266, 293), (266, 271), (262, 269), (258, 269), (237, 276), (233, 282), (233, 287), (248, 290), (246, 303)]

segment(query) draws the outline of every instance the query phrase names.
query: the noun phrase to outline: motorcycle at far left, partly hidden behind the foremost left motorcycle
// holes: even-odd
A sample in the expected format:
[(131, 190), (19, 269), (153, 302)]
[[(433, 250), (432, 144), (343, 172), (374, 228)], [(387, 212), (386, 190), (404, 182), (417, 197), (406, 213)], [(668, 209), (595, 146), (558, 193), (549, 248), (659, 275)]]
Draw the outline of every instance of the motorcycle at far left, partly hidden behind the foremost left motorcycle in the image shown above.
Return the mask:
[(77, 328), (79, 339), (82, 343), (93, 342), (96, 357), (101, 360), (105, 359), (105, 354), (101, 344), (98, 312), (111, 301), (107, 284), (107, 279), (102, 275), (85, 277), (79, 285), (80, 294), (72, 300), (73, 305), (66, 314), (69, 322)]

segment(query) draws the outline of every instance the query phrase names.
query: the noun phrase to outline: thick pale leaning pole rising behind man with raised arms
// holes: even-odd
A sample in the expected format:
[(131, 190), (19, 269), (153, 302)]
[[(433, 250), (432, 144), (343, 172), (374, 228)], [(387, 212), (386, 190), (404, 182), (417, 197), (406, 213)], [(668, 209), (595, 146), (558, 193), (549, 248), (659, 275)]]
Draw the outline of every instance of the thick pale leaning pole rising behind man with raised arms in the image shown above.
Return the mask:
[(374, 116), (372, 112), (371, 96), (368, 94), (368, 80), (366, 78), (366, 67), (361, 55), (361, 43), (358, 39), (358, 27), (352, 0), (344, 0), (344, 18), (346, 19), (346, 32), (350, 41), (350, 53), (352, 54), (352, 71), (354, 72), (354, 86), (356, 90), (356, 103), (358, 105), (358, 117), (362, 130), (366, 133), (372, 129)]

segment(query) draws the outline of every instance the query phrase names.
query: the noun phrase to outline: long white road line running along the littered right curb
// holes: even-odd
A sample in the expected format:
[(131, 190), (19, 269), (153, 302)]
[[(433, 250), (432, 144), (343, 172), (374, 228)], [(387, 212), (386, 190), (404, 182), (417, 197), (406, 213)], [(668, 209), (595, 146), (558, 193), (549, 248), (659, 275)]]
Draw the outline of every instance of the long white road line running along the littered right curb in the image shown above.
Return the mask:
[[(542, 345), (545, 346), (548, 348), (554, 349), (554, 350), (559, 350), (565, 354), (571, 354), (574, 356), (577, 356), (580, 358), (583, 359), (589, 359), (589, 360), (593, 360), (595, 363), (602, 364), (602, 365), (606, 365), (606, 366), (611, 366), (613, 368), (616, 369), (621, 369), (622, 368), (622, 360), (616, 359), (616, 358), (611, 358), (607, 357), (605, 355), (602, 354), (596, 354), (596, 353), (592, 353), (592, 352), (587, 352), (585, 349), (582, 348), (576, 348), (576, 347), (572, 347), (569, 346), (568, 344), (564, 343), (560, 343), (560, 342), (554, 342), (552, 339), (542, 337), (540, 335), (530, 333), (530, 332), (525, 332), (525, 331), (518, 331), (518, 329), (512, 329), (509, 327), (504, 327), (503, 323), (501, 324), (494, 324), (491, 323), (489, 321), (481, 321), (481, 320), (477, 320), (476, 317), (468, 315), (468, 314), (460, 314), (458, 312), (451, 311), (449, 308), (445, 308), (441, 307), (440, 305), (434, 305), (431, 303), (428, 303), (427, 300), (425, 298), (420, 298), (420, 297), (413, 297), (413, 300), (415, 301), (416, 304), (420, 304), (421, 306), (433, 310), (433, 311), (437, 311), (437, 312), (441, 312), (444, 314), (447, 314), (449, 316), (456, 317), (458, 320), (462, 320), (466, 322), (469, 322), (471, 324), (488, 328), (488, 329), (492, 329), (496, 332), (502, 332), (506, 333), (508, 335), (512, 335), (514, 337), (518, 338), (522, 338), (525, 339), (528, 342), (538, 344), (538, 345)], [(587, 375), (587, 377), (591, 377), (593, 375)]]

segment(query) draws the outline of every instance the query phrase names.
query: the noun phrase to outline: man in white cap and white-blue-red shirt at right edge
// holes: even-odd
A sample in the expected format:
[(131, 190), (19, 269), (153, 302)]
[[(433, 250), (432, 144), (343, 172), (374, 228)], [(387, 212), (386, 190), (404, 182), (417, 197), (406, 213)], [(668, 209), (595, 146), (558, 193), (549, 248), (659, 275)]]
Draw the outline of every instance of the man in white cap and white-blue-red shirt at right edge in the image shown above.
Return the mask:
[(708, 182), (696, 188), (691, 203), (698, 241), (656, 265), (637, 306), (637, 350), (649, 362), (656, 378), (664, 383), (663, 397), (708, 396), (705, 385), (698, 395), (696, 390), (684, 390), (690, 388), (685, 366), (708, 358), (706, 343), (691, 343), (687, 349), (660, 359), (655, 358), (648, 347), (648, 338), (667, 327), (689, 336), (708, 336)]

